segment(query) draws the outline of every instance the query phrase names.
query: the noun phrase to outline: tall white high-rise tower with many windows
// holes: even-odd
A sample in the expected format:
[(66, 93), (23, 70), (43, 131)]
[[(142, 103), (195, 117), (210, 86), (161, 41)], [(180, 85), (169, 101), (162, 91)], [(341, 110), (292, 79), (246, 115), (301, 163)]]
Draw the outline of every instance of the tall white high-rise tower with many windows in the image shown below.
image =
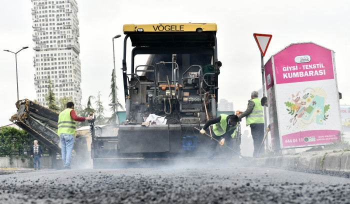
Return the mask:
[(79, 20), (76, 0), (31, 0), (36, 99), (47, 105), (48, 79), (58, 102), (63, 96), (81, 105)]

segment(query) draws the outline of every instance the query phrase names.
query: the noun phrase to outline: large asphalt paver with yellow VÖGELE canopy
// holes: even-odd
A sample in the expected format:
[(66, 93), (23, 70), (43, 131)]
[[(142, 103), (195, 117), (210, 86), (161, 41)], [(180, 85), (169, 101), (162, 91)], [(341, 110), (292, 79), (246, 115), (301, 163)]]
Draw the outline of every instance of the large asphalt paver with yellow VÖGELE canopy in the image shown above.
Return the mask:
[[(205, 158), (210, 137), (194, 127), (216, 117), (216, 24), (125, 24), (123, 32), (126, 119), (115, 135), (91, 125), (93, 166)], [(138, 55), (147, 62), (135, 65)], [(207, 64), (214, 71), (203, 73)]]

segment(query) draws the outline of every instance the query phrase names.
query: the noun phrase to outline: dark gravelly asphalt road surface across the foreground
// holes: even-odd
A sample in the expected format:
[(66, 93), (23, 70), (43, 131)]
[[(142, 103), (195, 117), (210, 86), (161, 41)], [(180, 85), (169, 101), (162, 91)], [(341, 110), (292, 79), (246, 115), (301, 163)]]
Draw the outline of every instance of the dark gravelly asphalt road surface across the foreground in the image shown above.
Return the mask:
[(257, 166), (41, 170), (1, 174), (0, 203), (350, 203), (349, 181)]

